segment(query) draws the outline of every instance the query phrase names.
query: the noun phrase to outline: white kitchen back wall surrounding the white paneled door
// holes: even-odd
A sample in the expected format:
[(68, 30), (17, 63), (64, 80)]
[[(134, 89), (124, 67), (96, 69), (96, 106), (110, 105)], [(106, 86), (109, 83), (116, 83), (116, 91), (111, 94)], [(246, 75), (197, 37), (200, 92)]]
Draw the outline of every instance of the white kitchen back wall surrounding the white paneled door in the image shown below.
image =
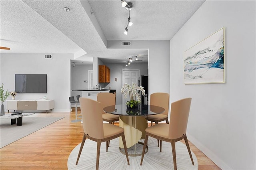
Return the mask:
[[(115, 64), (115, 63), (107, 63), (106, 64), (110, 68), (110, 83), (106, 84), (105, 89), (115, 89), (116, 90), (116, 104), (122, 104), (122, 69), (140, 69), (140, 75), (148, 75), (148, 64), (140, 64), (140, 63), (131, 63), (128, 67), (125, 64)], [(117, 78), (117, 81), (115, 81)]]

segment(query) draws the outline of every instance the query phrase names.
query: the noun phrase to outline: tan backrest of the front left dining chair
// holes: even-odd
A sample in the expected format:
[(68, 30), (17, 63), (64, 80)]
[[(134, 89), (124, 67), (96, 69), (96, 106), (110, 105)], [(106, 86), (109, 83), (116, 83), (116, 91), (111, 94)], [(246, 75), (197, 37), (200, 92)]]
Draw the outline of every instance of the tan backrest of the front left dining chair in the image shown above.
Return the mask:
[(103, 139), (102, 105), (92, 99), (80, 97), (84, 133), (92, 138)]

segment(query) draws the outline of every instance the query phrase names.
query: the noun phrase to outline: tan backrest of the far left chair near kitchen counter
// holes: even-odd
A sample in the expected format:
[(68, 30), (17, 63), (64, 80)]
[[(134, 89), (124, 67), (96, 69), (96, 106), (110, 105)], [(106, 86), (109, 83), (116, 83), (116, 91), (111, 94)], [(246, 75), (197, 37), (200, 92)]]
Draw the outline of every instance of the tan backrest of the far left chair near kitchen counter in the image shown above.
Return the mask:
[[(102, 104), (102, 108), (107, 106), (116, 105), (116, 97), (113, 93), (98, 93), (97, 101)], [(102, 109), (102, 114), (105, 112)]]

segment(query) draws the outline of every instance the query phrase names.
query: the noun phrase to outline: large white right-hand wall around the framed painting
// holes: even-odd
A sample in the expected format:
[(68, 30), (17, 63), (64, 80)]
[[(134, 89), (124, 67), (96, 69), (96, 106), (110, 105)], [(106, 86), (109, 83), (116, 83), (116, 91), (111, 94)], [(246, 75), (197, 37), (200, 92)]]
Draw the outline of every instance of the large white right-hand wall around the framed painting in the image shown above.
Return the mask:
[[(255, 1), (206, 1), (170, 40), (170, 100), (192, 97), (188, 140), (222, 169), (256, 169)], [(226, 83), (184, 85), (183, 53), (226, 27)]]

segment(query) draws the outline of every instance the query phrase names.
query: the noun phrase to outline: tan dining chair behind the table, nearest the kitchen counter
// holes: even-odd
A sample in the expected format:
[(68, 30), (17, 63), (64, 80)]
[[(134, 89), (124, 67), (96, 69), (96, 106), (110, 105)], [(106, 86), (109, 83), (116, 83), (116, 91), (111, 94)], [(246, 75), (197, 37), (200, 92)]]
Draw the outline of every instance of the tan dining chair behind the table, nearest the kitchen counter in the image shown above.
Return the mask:
[[(102, 103), (102, 108), (116, 105), (116, 96), (113, 93), (98, 93), (97, 101)], [(119, 121), (119, 116), (105, 113), (102, 110), (102, 119), (103, 121), (114, 124), (114, 122)]]

